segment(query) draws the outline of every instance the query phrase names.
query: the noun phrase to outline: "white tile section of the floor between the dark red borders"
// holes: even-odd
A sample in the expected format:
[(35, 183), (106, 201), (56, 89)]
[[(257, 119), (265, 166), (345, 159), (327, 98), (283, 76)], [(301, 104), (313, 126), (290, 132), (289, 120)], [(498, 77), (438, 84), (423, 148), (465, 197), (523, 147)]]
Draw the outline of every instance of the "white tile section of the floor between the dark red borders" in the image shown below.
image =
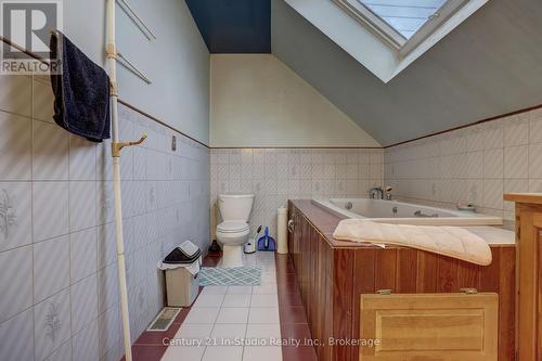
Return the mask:
[(261, 285), (204, 287), (172, 338), (182, 345), (163, 361), (282, 360), (274, 254), (249, 255), (245, 266), (261, 269)]

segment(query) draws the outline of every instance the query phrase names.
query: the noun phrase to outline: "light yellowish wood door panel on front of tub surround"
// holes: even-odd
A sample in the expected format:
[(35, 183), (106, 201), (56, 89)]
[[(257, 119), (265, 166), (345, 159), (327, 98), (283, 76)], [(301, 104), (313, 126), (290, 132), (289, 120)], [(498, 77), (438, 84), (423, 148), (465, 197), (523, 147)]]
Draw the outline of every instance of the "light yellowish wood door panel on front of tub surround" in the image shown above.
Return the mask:
[(495, 361), (494, 293), (361, 295), (360, 361)]

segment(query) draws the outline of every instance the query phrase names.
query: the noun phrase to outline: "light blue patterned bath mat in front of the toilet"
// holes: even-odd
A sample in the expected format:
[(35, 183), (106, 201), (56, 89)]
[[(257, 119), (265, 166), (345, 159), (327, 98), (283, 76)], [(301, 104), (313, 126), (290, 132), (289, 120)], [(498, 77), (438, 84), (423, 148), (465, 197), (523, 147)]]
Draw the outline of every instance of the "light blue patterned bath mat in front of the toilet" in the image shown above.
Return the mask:
[(261, 270), (254, 267), (202, 267), (198, 278), (201, 286), (258, 286)]

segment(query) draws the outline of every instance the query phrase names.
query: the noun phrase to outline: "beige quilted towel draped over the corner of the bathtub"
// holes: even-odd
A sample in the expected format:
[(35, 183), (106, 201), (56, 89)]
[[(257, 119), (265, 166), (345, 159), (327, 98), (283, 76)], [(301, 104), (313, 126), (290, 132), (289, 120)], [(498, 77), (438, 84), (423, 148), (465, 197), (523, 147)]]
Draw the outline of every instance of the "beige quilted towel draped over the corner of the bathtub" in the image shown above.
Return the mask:
[(367, 219), (341, 220), (333, 237), (340, 241), (391, 244), (491, 265), (491, 249), (480, 236), (461, 227), (378, 223)]

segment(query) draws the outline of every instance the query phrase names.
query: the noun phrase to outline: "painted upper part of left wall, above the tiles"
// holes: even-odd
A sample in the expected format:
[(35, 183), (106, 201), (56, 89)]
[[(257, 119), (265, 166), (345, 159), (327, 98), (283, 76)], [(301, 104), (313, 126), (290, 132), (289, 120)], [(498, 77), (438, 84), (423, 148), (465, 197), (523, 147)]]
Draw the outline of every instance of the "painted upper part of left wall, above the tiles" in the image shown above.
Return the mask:
[[(105, 1), (65, 0), (64, 33), (89, 57), (104, 64)], [(131, 0), (156, 34), (149, 41), (117, 5), (117, 50), (151, 80), (118, 67), (119, 98), (208, 144), (209, 53), (181, 0)]]

